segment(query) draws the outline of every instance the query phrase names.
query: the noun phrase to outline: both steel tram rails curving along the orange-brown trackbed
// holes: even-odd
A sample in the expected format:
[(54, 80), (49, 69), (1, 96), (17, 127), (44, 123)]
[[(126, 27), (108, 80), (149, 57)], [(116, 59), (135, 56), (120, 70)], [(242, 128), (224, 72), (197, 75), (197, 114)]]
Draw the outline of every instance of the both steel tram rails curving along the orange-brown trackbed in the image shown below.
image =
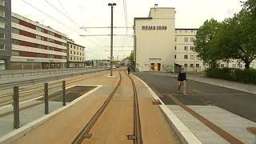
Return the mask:
[[(133, 140), (134, 144), (142, 144), (142, 130), (141, 130), (139, 108), (138, 108), (137, 90), (136, 90), (134, 80), (130, 77), (130, 75), (128, 74), (126, 75), (130, 78), (130, 81), (132, 82), (132, 86), (133, 86), (133, 91), (134, 91), (134, 134), (127, 135), (127, 137), (128, 137), (128, 140)], [(94, 126), (95, 122), (97, 122), (98, 118), (102, 115), (102, 113), (106, 109), (106, 106), (108, 106), (111, 99), (114, 97), (114, 94), (117, 92), (119, 86), (121, 85), (121, 82), (122, 82), (122, 75), (121, 75), (121, 70), (119, 70), (118, 84), (115, 86), (110, 96), (106, 98), (106, 101), (102, 104), (102, 106), (97, 110), (94, 116), (90, 118), (90, 121), (86, 123), (86, 126), (84, 126), (82, 130), (78, 133), (76, 138), (74, 138), (74, 141), (72, 142), (72, 144), (80, 144), (82, 143), (84, 138), (92, 137), (92, 134), (89, 133), (91, 128)]]

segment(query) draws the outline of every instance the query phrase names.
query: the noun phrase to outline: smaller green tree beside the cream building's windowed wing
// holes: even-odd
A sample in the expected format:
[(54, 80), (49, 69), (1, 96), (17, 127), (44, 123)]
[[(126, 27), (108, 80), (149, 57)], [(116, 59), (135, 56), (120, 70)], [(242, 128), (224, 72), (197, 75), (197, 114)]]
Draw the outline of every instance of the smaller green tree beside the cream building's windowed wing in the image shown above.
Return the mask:
[(220, 23), (214, 19), (206, 20), (200, 26), (196, 40), (194, 42), (195, 51), (198, 52), (198, 57), (204, 62), (210, 63), (211, 67), (217, 67), (219, 58), (216, 35)]

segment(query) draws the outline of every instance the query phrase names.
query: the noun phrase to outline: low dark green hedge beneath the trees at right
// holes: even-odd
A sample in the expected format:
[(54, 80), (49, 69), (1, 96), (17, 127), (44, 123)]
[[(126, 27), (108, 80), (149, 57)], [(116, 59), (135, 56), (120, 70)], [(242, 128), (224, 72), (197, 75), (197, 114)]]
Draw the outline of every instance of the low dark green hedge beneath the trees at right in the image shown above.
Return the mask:
[(254, 83), (256, 84), (256, 70), (240, 70), (234, 68), (209, 68), (206, 70), (206, 76), (210, 78), (222, 78), (234, 82)]

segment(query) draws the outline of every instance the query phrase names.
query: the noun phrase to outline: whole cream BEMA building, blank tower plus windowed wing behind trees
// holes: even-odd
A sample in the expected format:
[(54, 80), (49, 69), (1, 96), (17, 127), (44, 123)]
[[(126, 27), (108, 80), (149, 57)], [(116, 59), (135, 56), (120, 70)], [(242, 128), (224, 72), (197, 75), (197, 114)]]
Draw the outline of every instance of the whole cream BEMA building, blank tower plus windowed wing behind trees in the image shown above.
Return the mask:
[[(198, 58), (194, 40), (198, 29), (175, 29), (174, 8), (150, 9), (148, 18), (134, 18), (134, 66), (136, 71), (205, 71), (209, 66)], [(219, 67), (245, 69), (238, 60), (218, 62)], [(256, 60), (250, 67), (256, 69)], [(174, 70), (175, 69), (175, 70)]]

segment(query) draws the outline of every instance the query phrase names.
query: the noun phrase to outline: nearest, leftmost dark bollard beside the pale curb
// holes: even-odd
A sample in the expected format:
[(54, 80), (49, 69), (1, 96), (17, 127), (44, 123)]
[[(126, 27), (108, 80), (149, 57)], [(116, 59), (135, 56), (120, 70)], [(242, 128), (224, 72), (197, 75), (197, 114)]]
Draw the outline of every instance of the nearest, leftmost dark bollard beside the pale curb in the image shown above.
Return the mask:
[(14, 86), (14, 129), (19, 128), (18, 86)]

